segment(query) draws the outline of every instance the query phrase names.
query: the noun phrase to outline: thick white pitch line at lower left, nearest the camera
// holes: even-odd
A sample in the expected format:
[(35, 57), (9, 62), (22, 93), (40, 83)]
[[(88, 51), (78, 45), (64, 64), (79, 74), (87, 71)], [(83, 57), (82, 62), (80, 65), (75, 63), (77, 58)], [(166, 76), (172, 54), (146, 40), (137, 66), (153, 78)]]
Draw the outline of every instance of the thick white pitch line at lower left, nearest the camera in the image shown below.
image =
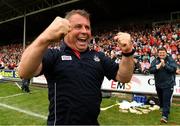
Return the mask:
[(42, 118), (44, 120), (47, 120), (47, 117), (44, 116), (44, 115), (40, 115), (40, 114), (37, 114), (37, 113), (34, 113), (34, 112), (31, 112), (31, 111), (26, 111), (26, 110), (22, 110), (20, 108), (16, 108), (16, 107), (13, 107), (13, 106), (10, 106), (10, 105), (7, 105), (7, 104), (3, 104), (3, 103), (0, 103), (0, 106), (4, 107), (4, 108), (8, 108), (8, 109), (12, 109), (12, 110), (15, 110), (15, 111), (18, 111), (18, 112), (22, 112), (22, 113), (25, 113), (27, 115), (31, 115), (31, 116), (35, 116), (35, 117), (38, 117), (38, 118)]

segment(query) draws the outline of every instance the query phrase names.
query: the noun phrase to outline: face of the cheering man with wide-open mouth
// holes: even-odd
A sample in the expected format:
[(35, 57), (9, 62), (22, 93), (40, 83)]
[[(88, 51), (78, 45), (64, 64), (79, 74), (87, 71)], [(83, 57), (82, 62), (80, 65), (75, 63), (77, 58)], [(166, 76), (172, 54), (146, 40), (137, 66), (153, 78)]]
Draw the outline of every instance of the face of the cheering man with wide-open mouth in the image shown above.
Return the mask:
[(72, 29), (66, 35), (65, 42), (79, 52), (85, 51), (91, 40), (90, 21), (79, 14), (71, 16), (68, 20)]

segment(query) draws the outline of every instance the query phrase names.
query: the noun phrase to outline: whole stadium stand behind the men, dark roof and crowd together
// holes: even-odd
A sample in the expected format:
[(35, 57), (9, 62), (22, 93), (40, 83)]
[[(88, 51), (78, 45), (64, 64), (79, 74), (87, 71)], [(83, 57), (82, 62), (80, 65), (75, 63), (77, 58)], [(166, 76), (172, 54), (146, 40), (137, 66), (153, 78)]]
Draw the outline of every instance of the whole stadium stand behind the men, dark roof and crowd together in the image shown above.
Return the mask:
[[(140, 3), (127, 0), (120, 4), (117, 2), (117, 0), (0, 1), (1, 68), (16, 69), (25, 43), (28, 46), (53, 18), (57, 15), (63, 16), (66, 11), (73, 8), (83, 8), (92, 14), (94, 39), (91, 48), (103, 51), (116, 62), (120, 61), (121, 50), (112, 38), (117, 31), (125, 31), (132, 35), (137, 50), (135, 58), (140, 63), (137, 71), (140, 73), (144, 71), (143, 61), (150, 63), (159, 46), (165, 46), (179, 64), (180, 21), (172, 21), (170, 17), (172, 12), (178, 14), (179, 1), (148, 0)], [(120, 5), (128, 6), (119, 7)], [(26, 24), (23, 23), (24, 15)], [(59, 44), (55, 44), (50, 48), (58, 46)]]

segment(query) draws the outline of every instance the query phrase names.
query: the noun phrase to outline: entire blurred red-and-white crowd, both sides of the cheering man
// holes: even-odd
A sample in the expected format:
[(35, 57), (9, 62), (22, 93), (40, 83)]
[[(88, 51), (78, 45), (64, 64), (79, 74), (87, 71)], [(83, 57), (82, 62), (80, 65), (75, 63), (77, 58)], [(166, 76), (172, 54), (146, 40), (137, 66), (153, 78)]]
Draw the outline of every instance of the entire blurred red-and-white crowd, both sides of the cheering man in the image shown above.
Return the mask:
[[(130, 24), (103, 27), (93, 31), (90, 48), (104, 52), (115, 62), (120, 62), (121, 49), (113, 39), (118, 31), (131, 34), (134, 48), (136, 48), (134, 73), (149, 74), (148, 69), (156, 57), (157, 48), (164, 46), (168, 54), (177, 62), (177, 74), (180, 74), (180, 24), (168, 23), (154, 26)], [(60, 43), (54, 43), (49, 48), (59, 48), (59, 46)], [(0, 46), (0, 69), (17, 69), (22, 52), (22, 43)]]

